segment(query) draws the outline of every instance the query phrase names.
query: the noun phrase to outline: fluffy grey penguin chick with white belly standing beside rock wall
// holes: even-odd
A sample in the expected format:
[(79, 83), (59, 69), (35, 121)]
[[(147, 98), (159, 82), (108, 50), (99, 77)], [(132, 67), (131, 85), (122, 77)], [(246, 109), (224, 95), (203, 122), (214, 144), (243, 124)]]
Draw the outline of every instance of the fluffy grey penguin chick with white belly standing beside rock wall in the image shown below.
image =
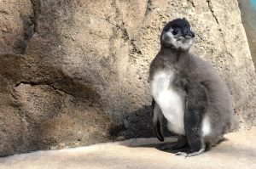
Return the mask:
[(237, 129), (230, 92), (212, 65), (189, 53), (195, 33), (187, 20), (172, 20), (160, 35), (160, 52), (150, 65), (154, 131), (164, 141), (167, 128), (176, 144), (161, 149), (189, 149), (177, 155), (200, 155), (218, 144), (224, 133)]

